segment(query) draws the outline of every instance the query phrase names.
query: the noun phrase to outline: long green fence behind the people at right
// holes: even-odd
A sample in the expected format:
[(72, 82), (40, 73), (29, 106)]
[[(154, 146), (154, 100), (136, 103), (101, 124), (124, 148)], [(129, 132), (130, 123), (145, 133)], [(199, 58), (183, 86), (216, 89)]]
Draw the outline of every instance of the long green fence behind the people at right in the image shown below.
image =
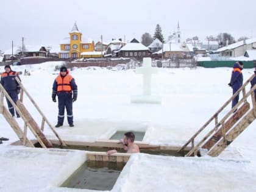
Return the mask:
[[(235, 60), (232, 61), (202, 61), (202, 62), (197, 62), (197, 66), (203, 66), (205, 68), (216, 68), (216, 67), (233, 67), (235, 64)], [(254, 68), (254, 61), (241, 61), (244, 63), (244, 68), (250, 69)]]

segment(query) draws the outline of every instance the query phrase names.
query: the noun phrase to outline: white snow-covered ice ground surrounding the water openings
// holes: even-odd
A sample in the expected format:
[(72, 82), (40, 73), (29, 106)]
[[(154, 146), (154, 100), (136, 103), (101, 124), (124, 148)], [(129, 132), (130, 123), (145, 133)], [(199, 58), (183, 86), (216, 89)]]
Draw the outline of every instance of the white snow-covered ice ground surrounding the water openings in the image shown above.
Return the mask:
[[(52, 123), (57, 123), (57, 104), (52, 102), (52, 83), (58, 71), (47, 62), (13, 66), (23, 85)], [(4, 71), (4, 66), (0, 67)], [(75, 127), (56, 129), (63, 140), (108, 139), (116, 130), (146, 131), (143, 141), (182, 146), (232, 95), (227, 85), (232, 68), (158, 69), (152, 75), (152, 94), (162, 104), (132, 104), (130, 96), (142, 93), (142, 76), (133, 69), (74, 68), (78, 98), (73, 105)], [(244, 82), (254, 69), (244, 69)], [(24, 104), (37, 122), (41, 116), (28, 99)], [(230, 106), (231, 107), (231, 106)], [(227, 111), (224, 111), (224, 113)], [(22, 119), (17, 119), (21, 127)], [(86, 152), (62, 149), (32, 149), (11, 146), (18, 140), (0, 115), (0, 191), (90, 191), (60, 188), (86, 159)], [(133, 154), (112, 191), (256, 191), (256, 123), (222, 152), (219, 157), (163, 157)], [(55, 138), (48, 126), (44, 132)], [(29, 138), (34, 138), (29, 134)]]

